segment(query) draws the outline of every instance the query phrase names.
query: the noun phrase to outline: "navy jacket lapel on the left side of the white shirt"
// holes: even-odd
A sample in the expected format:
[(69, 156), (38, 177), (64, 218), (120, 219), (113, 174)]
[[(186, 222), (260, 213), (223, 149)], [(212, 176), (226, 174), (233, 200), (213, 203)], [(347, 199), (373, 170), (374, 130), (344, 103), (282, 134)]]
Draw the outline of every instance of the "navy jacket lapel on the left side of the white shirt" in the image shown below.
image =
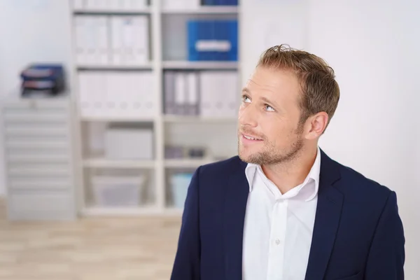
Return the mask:
[(242, 279), (242, 241), (249, 186), (245, 176), (245, 162), (239, 163), (226, 186), (224, 210), (224, 247), (226, 280)]

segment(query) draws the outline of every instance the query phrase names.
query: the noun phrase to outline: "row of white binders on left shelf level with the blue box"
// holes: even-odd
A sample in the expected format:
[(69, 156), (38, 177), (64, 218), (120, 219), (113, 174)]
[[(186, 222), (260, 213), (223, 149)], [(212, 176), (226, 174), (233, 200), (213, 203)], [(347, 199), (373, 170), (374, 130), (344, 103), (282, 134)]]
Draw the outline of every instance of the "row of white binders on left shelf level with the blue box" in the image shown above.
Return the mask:
[(80, 65), (139, 65), (149, 61), (149, 27), (144, 15), (78, 15), (75, 25)]

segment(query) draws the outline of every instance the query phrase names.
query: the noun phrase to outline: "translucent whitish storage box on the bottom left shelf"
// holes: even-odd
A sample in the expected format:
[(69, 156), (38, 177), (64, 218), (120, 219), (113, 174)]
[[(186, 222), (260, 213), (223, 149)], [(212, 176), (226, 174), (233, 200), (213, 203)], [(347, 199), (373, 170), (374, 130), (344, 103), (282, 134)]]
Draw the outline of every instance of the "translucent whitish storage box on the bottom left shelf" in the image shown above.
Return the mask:
[(138, 207), (144, 176), (92, 176), (97, 207)]

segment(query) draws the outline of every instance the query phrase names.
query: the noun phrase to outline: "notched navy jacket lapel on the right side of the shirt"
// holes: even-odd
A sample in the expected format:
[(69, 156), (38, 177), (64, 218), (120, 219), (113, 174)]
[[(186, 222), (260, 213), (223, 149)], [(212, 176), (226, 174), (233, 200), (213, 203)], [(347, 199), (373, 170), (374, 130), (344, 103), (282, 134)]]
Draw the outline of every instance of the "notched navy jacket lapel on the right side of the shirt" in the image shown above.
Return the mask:
[(305, 280), (322, 280), (330, 260), (343, 204), (342, 193), (332, 186), (338, 180), (338, 165), (321, 151), (318, 204)]

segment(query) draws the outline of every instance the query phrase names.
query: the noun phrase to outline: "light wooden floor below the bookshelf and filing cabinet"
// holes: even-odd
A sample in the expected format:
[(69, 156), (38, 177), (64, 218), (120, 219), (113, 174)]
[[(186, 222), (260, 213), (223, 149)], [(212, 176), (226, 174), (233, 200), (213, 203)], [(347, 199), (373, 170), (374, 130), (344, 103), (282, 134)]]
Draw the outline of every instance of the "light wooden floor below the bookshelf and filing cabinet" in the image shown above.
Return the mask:
[(6, 221), (0, 280), (169, 280), (181, 218)]

